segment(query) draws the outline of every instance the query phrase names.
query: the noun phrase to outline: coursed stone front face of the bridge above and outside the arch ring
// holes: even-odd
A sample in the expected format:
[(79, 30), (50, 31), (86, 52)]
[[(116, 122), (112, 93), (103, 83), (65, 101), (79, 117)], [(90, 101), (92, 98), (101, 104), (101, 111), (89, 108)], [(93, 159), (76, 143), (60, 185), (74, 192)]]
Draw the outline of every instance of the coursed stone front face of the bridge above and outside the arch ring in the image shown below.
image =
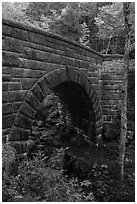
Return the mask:
[(2, 50), (4, 135), (9, 133), (14, 124), (28, 91), (38, 79), (55, 69), (66, 69), (66, 66), (77, 69), (87, 76), (99, 95), (98, 66), (103, 57), (89, 48), (58, 35), (3, 19)]

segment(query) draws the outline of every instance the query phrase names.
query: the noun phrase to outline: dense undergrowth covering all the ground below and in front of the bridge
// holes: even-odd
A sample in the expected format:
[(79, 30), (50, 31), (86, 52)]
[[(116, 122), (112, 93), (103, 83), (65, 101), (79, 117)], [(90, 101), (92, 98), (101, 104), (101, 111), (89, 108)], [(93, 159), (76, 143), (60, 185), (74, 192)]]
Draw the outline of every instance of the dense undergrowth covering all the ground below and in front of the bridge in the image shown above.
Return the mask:
[(117, 168), (119, 123), (107, 132), (111, 140), (104, 135), (97, 147), (61, 120), (59, 104), (53, 93), (44, 100), (32, 126), (33, 145), (26, 159), (16, 157), (14, 148), (3, 145), (3, 201), (134, 201), (133, 132), (127, 137), (121, 184)]

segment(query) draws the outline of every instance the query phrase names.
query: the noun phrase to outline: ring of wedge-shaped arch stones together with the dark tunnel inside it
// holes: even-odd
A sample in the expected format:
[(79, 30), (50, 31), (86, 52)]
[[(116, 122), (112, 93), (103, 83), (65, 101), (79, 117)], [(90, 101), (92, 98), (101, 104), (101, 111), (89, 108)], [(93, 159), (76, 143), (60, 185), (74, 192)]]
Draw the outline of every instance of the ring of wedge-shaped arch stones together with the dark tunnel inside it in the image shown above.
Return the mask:
[[(70, 91), (70, 95), (69, 93), (68, 95), (66, 93), (64, 96), (62, 95), (62, 97), (66, 97), (66, 99), (62, 98), (62, 101), (68, 104), (73, 125), (84, 130), (87, 135), (94, 134), (95, 137), (97, 137), (101, 134), (102, 119), (99, 101), (95, 89), (88, 78), (74, 68), (66, 67), (66, 69), (56, 69), (45, 74), (36, 82), (36, 84), (27, 93), (18, 110), (10, 130), (8, 142), (11, 142), (15, 148), (18, 149), (19, 153), (26, 151), (32, 121), (40, 107), (40, 104), (50, 90), (53, 90), (58, 94)], [(73, 102), (71, 102), (71, 100), (69, 101), (69, 96), (73, 96)], [(78, 103), (79, 105), (77, 105)], [(81, 113), (80, 108), (82, 108)], [(85, 111), (84, 108), (86, 109)], [(78, 116), (74, 118), (77, 114)], [(85, 120), (85, 128), (82, 127), (82, 125), (84, 126), (84, 122), (81, 124), (82, 120), (78, 119), (79, 117), (82, 118), (82, 114)], [(90, 122), (92, 122), (91, 130)]]

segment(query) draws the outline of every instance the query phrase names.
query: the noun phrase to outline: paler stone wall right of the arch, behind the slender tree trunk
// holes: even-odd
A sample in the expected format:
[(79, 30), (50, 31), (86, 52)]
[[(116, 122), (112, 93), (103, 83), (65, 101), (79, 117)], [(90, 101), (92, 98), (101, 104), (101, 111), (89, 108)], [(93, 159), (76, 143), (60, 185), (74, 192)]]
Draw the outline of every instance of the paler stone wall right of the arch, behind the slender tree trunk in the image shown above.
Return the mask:
[[(123, 60), (113, 59), (102, 63), (100, 67), (101, 81), (101, 106), (103, 110), (103, 122), (111, 123), (120, 110), (121, 84), (122, 84)], [(134, 106), (135, 101), (135, 69), (134, 60), (130, 61), (128, 73), (128, 101)], [(128, 111), (131, 105), (128, 103)]]

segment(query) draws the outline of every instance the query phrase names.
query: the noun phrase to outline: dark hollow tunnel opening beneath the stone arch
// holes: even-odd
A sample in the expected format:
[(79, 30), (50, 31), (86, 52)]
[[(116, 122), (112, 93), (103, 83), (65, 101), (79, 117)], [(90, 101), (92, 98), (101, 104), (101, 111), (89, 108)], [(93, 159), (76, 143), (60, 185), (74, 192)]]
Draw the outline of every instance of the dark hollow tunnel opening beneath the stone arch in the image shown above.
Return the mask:
[(81, 85), (75, 82), (63, 82), (53, 92), (62, 104), (62, 119), (77, 131), (94, 140), (96, 135), (95, 114), (92, 102)]

